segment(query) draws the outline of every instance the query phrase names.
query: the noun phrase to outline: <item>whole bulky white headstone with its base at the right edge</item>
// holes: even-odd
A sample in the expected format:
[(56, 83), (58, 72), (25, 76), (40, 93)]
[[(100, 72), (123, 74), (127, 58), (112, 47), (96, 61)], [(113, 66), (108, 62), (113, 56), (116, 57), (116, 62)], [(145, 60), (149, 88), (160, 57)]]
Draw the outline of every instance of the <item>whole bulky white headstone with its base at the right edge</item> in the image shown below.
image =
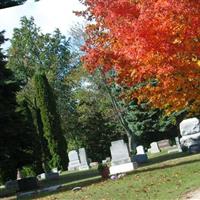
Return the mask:
[[(197, 118), (190, 118), (183, 120), (180, 123), (180, 143), (182, 148), (186, 148), (189, 150), (189, 152), (197, 152), (198, 149), (200, 149), (200, 121)], [(195, 149), (194, 151), (191, 151), (190, 147), (192, 149)], [(199, 148), (197, 147), (199, 146)]]

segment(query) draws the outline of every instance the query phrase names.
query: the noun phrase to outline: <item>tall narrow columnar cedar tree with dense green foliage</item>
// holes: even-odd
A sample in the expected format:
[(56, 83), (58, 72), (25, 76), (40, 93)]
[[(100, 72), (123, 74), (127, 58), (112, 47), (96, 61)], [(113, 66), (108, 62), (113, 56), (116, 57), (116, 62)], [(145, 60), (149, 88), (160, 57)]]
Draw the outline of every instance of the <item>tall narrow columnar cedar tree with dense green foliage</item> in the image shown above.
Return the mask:
[(41, 113), (44, 137), (48, 141), (51, 153), (50, 167), (66, 169), (68, 164), (67, 145), (62, 135), (59, 115), (56, 111), (56, 103), (53, 91), (44, 73), (36, 73), (34, 76), (36, 100)]

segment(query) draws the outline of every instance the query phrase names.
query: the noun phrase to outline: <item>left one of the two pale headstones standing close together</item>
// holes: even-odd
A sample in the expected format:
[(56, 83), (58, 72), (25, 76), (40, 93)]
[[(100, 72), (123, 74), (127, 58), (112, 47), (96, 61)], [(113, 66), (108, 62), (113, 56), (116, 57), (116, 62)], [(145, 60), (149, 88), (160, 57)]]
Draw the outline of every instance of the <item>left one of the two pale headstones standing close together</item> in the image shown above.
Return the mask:
[(69, 164), (68, 164), (68, 170), (78, 170), (80, 167), (80, 160), (79, 156), (76, 150), (72, 150), (68, 153), (69, 157)]

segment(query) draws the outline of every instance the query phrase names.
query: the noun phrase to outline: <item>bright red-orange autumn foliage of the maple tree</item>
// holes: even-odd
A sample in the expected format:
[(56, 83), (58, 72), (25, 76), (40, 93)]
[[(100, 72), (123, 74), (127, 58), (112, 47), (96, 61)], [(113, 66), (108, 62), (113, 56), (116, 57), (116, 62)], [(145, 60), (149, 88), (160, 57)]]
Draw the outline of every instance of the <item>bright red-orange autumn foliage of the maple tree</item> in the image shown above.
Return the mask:
[[(200, 113), (200, 0), (81, 0), (85, 67), (114, 69), (127, 94), (172, 112)], [(156, 84), (152, 84), (152, 80)]]

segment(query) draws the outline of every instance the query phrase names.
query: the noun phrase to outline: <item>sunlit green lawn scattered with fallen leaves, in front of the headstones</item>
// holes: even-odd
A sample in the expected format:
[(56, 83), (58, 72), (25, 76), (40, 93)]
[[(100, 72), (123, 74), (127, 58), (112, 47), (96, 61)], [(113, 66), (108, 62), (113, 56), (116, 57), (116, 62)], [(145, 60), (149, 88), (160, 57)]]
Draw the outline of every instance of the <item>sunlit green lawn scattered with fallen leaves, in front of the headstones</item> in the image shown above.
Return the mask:
[[(88, 172), (87, 172), (88, 173)], [(76, 186), (81, 182), (76, 182)], [(83, 186), (83, 185), (82, 185)], [(200, 154), (161, 153), (118, 180), (99, 181), (79, 191), (61, 190), (35, 196), (41, 200), (169, 200), (200, 187)], [(26, 198), (27, 199), (27, 198)], [(33, 196), (31, 197), (33, 199)]]

